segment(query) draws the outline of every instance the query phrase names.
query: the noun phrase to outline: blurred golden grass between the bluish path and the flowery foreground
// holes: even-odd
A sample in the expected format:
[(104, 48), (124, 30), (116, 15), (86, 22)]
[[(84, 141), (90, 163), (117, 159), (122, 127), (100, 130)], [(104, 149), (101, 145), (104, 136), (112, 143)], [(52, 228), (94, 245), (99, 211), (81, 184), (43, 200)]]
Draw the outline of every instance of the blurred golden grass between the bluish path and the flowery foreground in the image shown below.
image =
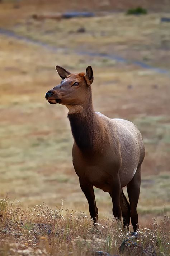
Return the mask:
[[(1, 36), (1, 46), (1, 196), (8, 193), (12, 200), (21, 200), (23, 206), (48, 202), (49, 207), (60, 205), (63, 198), (66, 207), (88, 213), (72, 167), (73, 139), (67, 109), (49, 105), (44, 94), (60, 82), (56, 64), (77, 72), (92, 63), (96, 111), (133, 121), (144, 137), (142, 173), (144, 179), (145, 175), (151, 176), (148, 183), (142, 182), (138, 205), (142, 223), (150, 222), (145, 214), (163, 215), (163, 209), (168, 214), (169, 178), (155, 176), (166, 173), (170, 164), (168, 77), (143, 74), (141, 68), (117, 62), (105, 65), (103, 58), (63, 52), (55, 55), (42, 46), (6, 36)], [(132, 88), (128, 89), (128, 85)], [(100, 215), (112, 216), (109, 195), (99, 189), (95, 194)]]

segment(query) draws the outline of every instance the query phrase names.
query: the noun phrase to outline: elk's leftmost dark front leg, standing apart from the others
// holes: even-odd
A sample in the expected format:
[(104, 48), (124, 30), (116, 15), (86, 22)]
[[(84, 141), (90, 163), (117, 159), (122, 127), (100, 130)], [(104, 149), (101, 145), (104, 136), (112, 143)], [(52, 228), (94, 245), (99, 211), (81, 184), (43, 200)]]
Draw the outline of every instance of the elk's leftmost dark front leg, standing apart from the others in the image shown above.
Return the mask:
[(93, 186), (88, 185), (87, 183), (84, 183), (81, 180), (79, 181), (81, 190), (88, 200), (90, 216), (93, 219), (93, 224), (95, 225), (95, 223), (98, 221), (98, 208), (96, 206)]

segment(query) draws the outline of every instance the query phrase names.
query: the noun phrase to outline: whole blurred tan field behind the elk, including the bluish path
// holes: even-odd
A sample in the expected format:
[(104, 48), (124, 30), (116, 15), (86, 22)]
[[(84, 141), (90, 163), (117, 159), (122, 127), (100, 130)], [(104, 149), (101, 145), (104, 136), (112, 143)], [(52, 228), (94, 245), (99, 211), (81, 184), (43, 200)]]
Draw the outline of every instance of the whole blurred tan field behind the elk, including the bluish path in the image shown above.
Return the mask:
[[(72, 166), (67, 108), (45, 93), (70, 72), (93, 67), (93, 104), (140, 129), (146, 156), (140, 223), (170, 213), (170, 1), (0, 1), (0, 197), (22, 207), (85, 211)], [(126, 189), (125, 189), (126, 192)], [(112, 216), (95, 188), (99, 216)]]

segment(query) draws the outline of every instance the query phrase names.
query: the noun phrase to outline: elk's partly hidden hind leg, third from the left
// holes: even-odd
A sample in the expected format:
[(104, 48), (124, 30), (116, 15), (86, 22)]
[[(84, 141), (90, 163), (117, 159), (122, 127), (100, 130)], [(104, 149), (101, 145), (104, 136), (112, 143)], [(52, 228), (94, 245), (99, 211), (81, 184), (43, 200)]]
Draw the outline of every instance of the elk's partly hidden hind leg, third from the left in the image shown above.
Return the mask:
[(121, 188), (121, 197), (120, 197), (120, 205), (122, 210), (122, 217), (123, 217), (123, 228), (128, 228), (130, 225), (130, 204), (127, 201), (126, 196), (123, 193), (123, 189)]

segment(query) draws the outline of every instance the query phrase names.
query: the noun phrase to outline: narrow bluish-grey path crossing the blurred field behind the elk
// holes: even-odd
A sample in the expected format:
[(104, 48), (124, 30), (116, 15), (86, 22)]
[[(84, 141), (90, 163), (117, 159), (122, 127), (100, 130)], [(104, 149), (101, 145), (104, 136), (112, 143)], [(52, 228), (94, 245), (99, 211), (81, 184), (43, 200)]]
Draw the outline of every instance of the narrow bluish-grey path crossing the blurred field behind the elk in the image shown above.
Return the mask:
[[(27, 43), (32, 43), (32, 44), (36, 44), (36, 45), (39, 45), (39, 46), (43, 46), (44, 48), (46, 48), (48, 50), (51, 50), (51, 51), (55, 51), (55, 52), (61, 51), (61, 50), (68, 50), (68, 48), (57, 48), (55, 46), (51, 46), (51, 45), (49, 45), (47, 43), (44, 43), (42, 41), (33, 40), (33, 39), (28, 38), (28, 37), (18, 35), (13, 31), (6, 30), (4, 28), (0, 28), (0, 34), (1, 35), (6, 35), (6, 36), (9, 36), (9, 37), (13, 37), (15, 39), (22, 40), (22, 41), (27, 42)], [(122, 58), (121, 56), (115, 55), (115, 54), (94, 53), (94, 52), (90, 52), (90, 51), (74, 51), (74, 53), (78, 54), (78, 55), (88, 55), (88, 56), (91, 56), (91, 57), (104, 57), (104, 58), (108, 58), (108, 59), (111, 59), (111, 60), (116, 60), (117, 62), (129, 63), (129, 59)], [(146, 64), (144, 62), (141, 62), (141, 61), (138, 61), (138, 60), (130, 60), (130, 62), (132, 64), (140, 66), (142, 68), (151, 69), (156, 73), (166, 74), (166, 75), (170, 76), (170, 72), (166, 69), (156, 68), (156, 67), (153, 67), (151, 65), (148, 65), (148, 64)]]

